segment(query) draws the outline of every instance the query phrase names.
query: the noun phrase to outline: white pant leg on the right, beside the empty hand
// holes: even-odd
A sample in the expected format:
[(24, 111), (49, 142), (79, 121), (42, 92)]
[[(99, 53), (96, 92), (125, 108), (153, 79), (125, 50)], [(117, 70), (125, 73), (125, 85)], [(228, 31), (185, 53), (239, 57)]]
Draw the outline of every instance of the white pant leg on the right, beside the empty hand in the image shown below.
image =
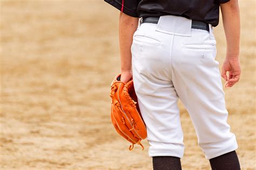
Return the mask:
[(211, 36), (205, 30), (192, 29), (192, 37), (174, 37), (173, 51), (177, 53), (172, 56), (174, 87), (190, 114), (207, 159), (238, 148), (227, 123), (225, 94)]

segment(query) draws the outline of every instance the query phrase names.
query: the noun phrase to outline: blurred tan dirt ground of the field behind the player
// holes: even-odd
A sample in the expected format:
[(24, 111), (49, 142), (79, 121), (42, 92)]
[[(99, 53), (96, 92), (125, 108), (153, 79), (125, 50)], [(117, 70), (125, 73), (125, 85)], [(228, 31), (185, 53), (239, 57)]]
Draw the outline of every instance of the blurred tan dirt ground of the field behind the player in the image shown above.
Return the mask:
[[(242, 76), (225, 89), (242, 169), (255, 168), (255, 1), (239, 1)], [(145, 150), (114, 130), (110, 83), (119, 73), (118, 14), (100, 0), (1, 5), (0, 169), (152, 169)], [(214, 29), (217, 60), (225, 34)], [(221, 66), (221, 65), (220, 65)], [(183, 169), (210, 169), (179, 103)]]

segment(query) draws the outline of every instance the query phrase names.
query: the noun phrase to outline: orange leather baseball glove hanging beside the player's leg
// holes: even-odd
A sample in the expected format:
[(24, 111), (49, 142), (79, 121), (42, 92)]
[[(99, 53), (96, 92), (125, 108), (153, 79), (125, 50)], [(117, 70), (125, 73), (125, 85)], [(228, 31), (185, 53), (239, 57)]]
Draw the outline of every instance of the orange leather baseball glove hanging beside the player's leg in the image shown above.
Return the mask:
[(130, 141), (133, 149), (134, 144), (144, 146), (140, 143), (147, 137), (145, 123), (140, 114), (137, 96), (133, 87), (133, 80), (127, 83), (120, 81), (121, 74), (114, 77), (111, 83), (111, 121), (116, 131)]

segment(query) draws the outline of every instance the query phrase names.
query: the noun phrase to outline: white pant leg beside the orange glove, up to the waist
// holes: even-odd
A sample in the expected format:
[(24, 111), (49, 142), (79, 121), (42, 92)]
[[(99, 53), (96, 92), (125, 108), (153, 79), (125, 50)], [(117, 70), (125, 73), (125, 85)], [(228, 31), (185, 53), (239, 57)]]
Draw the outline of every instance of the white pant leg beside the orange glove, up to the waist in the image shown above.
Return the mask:
[(170, 75), (172, 36), (161, 36), (155, 28), (156, 24), (144, 23), (134, 34), (131, 47), (134, 89), (147, 128), (150, 157), (181, 158), (183, 132), (178, 96)]

